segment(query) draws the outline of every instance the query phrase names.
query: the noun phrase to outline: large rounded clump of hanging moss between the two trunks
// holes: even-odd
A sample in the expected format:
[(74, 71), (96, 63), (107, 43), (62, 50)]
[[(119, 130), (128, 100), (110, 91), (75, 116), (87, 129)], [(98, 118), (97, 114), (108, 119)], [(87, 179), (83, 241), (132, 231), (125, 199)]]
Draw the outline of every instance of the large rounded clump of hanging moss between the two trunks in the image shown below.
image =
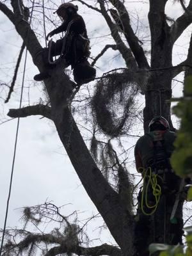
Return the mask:
[(100, 79), (92, 100), (95, 122), (102, 132), (118, 137), (129, 131), (135, 118), (134, 98), (145, 73), (114, 72)]

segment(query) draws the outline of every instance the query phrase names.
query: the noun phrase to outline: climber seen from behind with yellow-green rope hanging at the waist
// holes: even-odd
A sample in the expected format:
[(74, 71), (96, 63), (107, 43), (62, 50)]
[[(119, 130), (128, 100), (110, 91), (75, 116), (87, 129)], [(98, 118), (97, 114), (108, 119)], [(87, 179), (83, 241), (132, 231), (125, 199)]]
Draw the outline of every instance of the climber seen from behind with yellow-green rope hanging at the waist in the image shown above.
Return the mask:
[(135, 228), (135, 244), (140, 256), (148, 255), (146, 248), (150, 243), (182, 244), (183, 234), (183, 197), (179, 198), (171, 220), (182, 184), (170, 164), (176, 135), (163, 116), (153, 118), (148, 127), (148, 133), (141, 136), (134, 150), (136, 169), (143, 176)]

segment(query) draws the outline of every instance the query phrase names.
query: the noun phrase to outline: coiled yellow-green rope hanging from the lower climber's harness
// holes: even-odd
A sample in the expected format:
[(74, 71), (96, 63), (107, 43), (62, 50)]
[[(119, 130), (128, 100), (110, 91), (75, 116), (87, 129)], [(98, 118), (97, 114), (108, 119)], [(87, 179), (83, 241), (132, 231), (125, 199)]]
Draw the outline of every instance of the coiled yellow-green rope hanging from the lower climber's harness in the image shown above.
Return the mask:
[[(157, 174), (152, 173), (152, 169), (148, 167), (147, 169), (145, 168), (140, 168), (142, 169), (143, 175), (143, 190), (141, 193), (141, 211), (145, 215), (152, 215), (154, 212), (156, 212), (157, 206), (159, 204), (159, 200), (161, 197), (161, 186), (157, 183), (157, 177), (161, 179), (161, 177)], [(152, 189), (152, 194), (154, 195), (154, 205), (150, 205), (148, 202), (148, 192), (149, 189)], [(151, 212), (147, 212), (144, 209), (144, 205), (147, 207), (148, 210), (151, 210)]]

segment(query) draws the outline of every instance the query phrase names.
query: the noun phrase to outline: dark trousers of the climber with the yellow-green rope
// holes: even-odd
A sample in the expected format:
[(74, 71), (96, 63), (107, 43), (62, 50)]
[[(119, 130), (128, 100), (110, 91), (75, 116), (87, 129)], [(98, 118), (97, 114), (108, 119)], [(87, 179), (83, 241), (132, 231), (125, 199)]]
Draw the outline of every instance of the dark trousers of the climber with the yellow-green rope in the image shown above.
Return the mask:
[[(179, 201), (174, 221), (170, 221), (176, 194), (179, 191), (180, 180), (181, 179), (174, 173), (168, 173), (166, 177), (164, 177), (164, 182), (161, 183), (162, 195), (156, 212), (152, 215), (145, 215), (143, 211), (141, 211), (140, 191), (138, 195), (138, 212), (134, 233), (136, 255), (148, 256), (148, 246), (150, 243), (182, 244), (182, 235), (184, 233), (182, 230), (182, 206), (184, 200)], [(154, 205), (152, 188), (148, 189), (148, 194), (150, 194), (147, 196), (148, 200), (150, 200), (150, 205)], [(143, 203), (143, 209), (147, 213), (151, 211), (147, 209), (145, 203)]]

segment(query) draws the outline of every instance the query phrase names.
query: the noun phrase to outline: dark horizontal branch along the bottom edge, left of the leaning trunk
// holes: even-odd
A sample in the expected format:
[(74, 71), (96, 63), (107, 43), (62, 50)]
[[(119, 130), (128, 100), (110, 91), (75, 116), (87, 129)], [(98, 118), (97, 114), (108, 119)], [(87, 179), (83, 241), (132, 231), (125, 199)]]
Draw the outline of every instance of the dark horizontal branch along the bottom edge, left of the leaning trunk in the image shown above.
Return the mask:
[(45, 256), (55, 256), (61, 253), (75, 253), (76, 255), (82, 256), (100, 256), (100, 255), (109, 255), (109, 256), (121, 256), (121, 250), (115, 246), (108, 244), (102, 244), (100, 246), (84, 248), (81, 246), (74, 246), (68, 250), (67, 244), (62, 244), (61, 246), (55, 246), (51, 248)]

